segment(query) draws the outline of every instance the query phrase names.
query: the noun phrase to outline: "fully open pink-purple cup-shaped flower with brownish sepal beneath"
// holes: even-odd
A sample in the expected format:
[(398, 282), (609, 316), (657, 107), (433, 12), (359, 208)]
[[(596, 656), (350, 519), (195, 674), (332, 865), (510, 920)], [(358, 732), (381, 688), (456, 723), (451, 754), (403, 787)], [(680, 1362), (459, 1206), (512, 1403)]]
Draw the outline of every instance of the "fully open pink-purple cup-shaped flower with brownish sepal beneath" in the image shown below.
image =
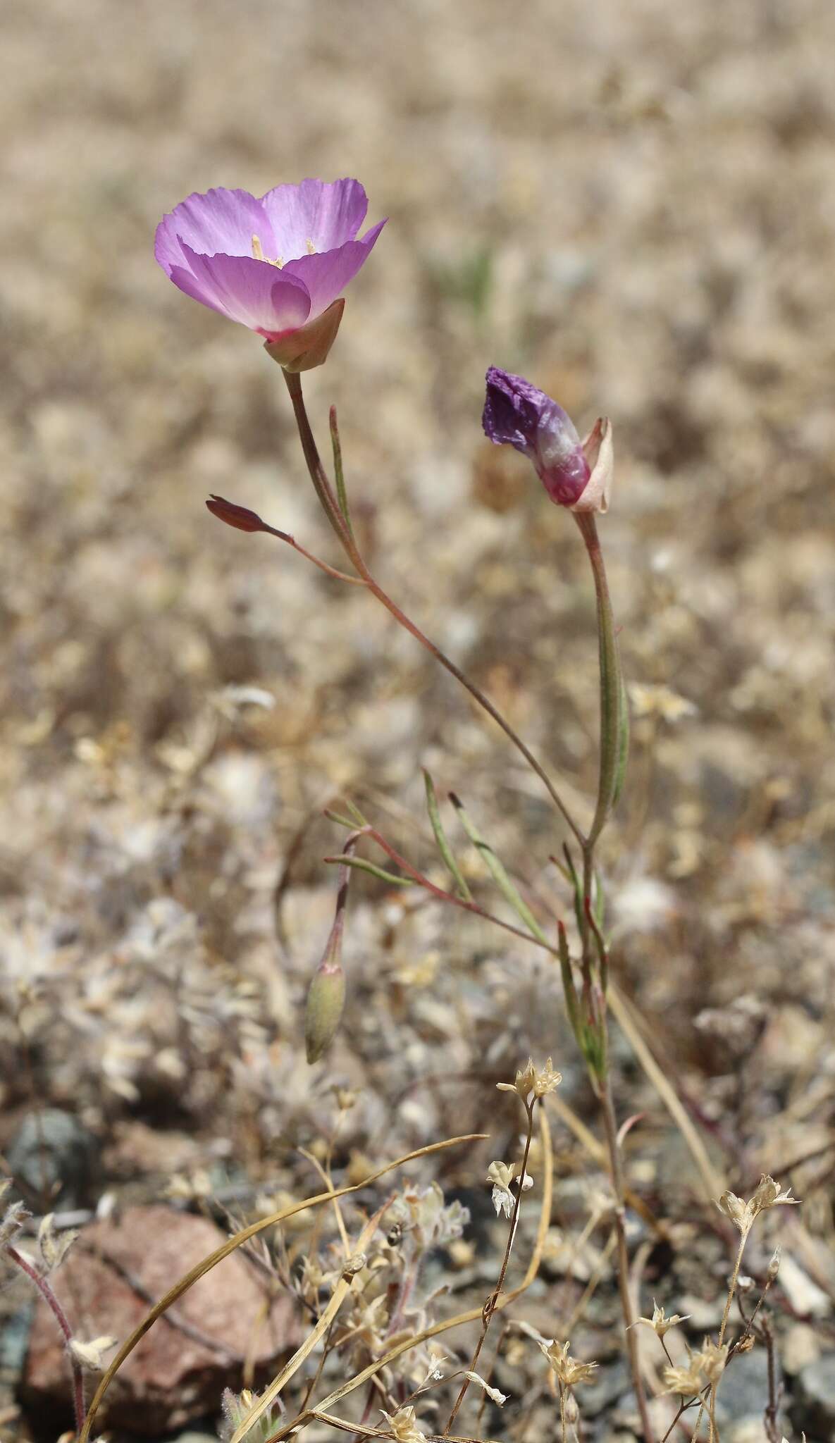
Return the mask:
[(257, 199), (247, 190), (190, 195), (157, 225), (154, 255), (186, 296), (258, 332), (281, 365), (324, 361), (342, 291), (385, 221), (358, 240), (368, 199), (359, 180), (303, 180)]

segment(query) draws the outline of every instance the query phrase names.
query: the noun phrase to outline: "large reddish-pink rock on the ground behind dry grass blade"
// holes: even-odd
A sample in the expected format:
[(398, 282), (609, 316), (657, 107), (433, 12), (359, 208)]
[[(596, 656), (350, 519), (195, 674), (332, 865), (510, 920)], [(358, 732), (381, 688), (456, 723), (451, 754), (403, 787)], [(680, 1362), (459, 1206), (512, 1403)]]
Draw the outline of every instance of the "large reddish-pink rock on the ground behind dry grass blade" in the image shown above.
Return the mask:
[[(75, 1336), (110, 1335), (121, 1343), (151, 1303), (224, 1241), (212, 1222), (166, 1206), (127, 1208), (117, 1221), (84, 1228), (55, 1276)], [(283, 1294), (264, 1319), (264, 1278), (239, 1250), (224, 1258), (137, 1343), (110, 1385), (101, 1424), (153, 1436), (216, 1411), (224, 1388), (242, 1387), (251, 1348), (255, 1387), (268, 1381), (297, 1346), (300, 1325)], [(42, 1302), (20, 1391), (37, 1414), (69, 1410), (66, 1356)]]

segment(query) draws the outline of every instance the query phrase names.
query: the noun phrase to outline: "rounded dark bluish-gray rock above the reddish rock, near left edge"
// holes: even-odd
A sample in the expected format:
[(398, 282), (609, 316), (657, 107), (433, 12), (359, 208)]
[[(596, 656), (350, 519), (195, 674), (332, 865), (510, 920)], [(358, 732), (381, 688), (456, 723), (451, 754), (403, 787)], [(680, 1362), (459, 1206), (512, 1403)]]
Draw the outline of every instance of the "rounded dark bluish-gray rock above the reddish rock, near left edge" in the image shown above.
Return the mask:
[(98, 1141), (72, 1113), (46, 1107), (23, 1118), (6, 1157), (27, 1206), (79, 1208), (94, 1188)]

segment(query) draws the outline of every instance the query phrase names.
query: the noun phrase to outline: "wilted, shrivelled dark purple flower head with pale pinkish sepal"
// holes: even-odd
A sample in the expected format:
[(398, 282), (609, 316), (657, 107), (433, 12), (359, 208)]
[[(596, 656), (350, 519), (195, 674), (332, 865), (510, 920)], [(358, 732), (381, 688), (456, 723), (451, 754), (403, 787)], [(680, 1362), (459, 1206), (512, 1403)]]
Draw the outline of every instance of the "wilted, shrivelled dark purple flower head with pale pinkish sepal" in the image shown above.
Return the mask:
[(522, 375), (492, 365), (482, 416), (496, 446), (515, 446), (534, 463), (545, 491), (571, 511), (606, 511), (611, 482), (611, 427), (598, 420), (581, 443), (571, 417)]

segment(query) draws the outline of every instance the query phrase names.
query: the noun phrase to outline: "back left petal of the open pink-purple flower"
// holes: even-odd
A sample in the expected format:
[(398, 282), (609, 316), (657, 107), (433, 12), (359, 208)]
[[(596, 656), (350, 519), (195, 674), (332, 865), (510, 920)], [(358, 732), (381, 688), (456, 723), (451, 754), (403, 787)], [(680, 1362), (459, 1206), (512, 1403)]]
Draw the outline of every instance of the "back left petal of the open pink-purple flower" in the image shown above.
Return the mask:
[(180, 241), (198, 255), (252, 255), (257, 235), (264, 254), (274, 257), (274, 240), (268, 216), (254, 195), (247, 190), (208, 190), (190, 195), (163, 215), (157, 225), (154, 255), (164, 271), (183, 264)]

